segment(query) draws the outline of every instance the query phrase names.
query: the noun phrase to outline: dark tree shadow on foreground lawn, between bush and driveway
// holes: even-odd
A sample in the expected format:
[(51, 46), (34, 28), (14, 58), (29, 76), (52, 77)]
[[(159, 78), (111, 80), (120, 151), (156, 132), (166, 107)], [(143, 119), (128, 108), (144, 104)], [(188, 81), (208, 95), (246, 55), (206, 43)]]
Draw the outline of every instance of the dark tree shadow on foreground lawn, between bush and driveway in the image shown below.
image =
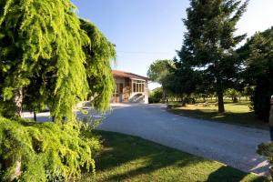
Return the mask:
[(106, 181), (122, 181), (138, 175), (152, 173), (160, 168), (173, 165), (186, 167), (187, 165), (194, 165), (206, 160), (201, 157), (194, 157), (187, 153), (182, 153), (173, 148), (148, 142), (135, 136), (125, 136), (101, 131), (97, 133), (104, 136), (104, 146), (106, 146), (100, 157), (96, 159), (97, 173), (106, 170), (115, 170), (116, 167), (121, 167), (137, 159), (144, 161), (143, 165), (134, 167), (125, 173), (116, 172), (105, 178), (104, 180)]

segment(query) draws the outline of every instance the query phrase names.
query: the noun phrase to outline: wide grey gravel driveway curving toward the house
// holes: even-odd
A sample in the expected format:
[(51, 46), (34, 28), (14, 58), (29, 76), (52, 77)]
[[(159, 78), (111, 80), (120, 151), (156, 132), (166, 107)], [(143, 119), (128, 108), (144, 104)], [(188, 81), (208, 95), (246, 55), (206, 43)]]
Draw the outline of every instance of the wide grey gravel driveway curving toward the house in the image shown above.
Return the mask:
[(140, 136), (259, 175), (268, 164), (256, 154), (268, 131), (177, 116), (164, 105), (117, 105), (98, 129)]

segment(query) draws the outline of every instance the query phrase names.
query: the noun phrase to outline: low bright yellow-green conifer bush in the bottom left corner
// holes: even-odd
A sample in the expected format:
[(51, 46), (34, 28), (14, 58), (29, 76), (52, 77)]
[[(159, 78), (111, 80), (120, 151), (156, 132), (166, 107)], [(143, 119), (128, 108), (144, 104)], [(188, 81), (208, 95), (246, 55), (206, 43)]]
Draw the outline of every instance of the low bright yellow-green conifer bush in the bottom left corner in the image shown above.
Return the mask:
[(93, 158), (101, 146), (84, 126), (0, 116), (0, 181), (67, 181), (83, 170), (94, 173)]

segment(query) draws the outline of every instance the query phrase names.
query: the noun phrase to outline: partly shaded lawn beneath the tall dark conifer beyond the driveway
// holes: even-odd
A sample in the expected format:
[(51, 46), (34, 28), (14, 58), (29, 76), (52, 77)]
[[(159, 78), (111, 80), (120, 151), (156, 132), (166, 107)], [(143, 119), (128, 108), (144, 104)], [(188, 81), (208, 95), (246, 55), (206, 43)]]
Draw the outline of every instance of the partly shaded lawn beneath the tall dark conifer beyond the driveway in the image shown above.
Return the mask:
[(268, 124), (258, 120), (253, 111), (250, 111), (249, 102), (227, 103), (225, 104), (225, 109), (226, 113), (218, 114), (217, 106), (214, 105), (187, 105), (185, 107), (172, 108), (169, 111), (181, 116), (268, 129)]

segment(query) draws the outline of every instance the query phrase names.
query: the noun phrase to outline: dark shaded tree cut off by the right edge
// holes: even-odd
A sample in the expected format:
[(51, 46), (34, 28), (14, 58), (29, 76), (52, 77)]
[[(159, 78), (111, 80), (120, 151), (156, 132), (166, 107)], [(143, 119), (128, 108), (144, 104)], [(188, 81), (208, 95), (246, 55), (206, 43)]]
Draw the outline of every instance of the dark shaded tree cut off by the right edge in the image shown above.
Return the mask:
[(273, 27), (257, 33), (248, 39), (246, 45), (238, 49), (246, 62), (244, 73), (251, 92), (252, 107), (260, 119), (268, 121), (270, 96), (273, 94)]

